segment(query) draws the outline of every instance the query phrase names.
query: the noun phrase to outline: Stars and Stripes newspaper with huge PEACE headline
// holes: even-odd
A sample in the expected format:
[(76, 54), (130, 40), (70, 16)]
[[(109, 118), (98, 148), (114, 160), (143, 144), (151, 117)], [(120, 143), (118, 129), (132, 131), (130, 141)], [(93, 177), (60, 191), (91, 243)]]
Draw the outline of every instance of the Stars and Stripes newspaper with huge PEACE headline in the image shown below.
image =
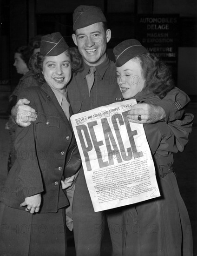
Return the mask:
[(127, 121), (136, 100), (72, 115), (95, 212), (160, 196), (143, 124)]

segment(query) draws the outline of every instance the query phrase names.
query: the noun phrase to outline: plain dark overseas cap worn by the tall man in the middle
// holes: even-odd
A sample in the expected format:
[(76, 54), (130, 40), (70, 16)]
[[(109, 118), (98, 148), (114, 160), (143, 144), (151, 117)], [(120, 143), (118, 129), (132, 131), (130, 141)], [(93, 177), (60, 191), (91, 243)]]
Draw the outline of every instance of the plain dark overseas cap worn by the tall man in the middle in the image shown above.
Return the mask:
[(105, 15), (100, 7), (80, 5), (72, 14), (73, 31), (76, 29), (90, 26), (97, 22), (107, 22)]

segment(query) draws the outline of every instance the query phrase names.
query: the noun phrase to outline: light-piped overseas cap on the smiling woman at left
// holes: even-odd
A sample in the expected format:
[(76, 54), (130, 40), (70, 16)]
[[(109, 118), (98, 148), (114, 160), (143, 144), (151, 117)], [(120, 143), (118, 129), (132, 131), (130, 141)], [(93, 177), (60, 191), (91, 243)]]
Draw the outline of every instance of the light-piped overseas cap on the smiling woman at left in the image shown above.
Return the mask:
[(43, 35), (40, 44), (40, 54), (57, 56), (68, 49), (68, 45), (59, 32)]

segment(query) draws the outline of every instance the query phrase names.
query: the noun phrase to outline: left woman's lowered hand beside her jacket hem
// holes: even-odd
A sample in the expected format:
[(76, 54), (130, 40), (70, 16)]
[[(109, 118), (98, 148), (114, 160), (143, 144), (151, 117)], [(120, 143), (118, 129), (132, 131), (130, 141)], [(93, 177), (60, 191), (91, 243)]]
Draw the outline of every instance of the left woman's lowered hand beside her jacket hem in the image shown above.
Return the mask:
[(39, 212), (41, 200), (40, 194), (32, 195), (26, 197), (25, 201), (20, 204), (20, 207), (27, 206), (25, 210), (30, 213)]

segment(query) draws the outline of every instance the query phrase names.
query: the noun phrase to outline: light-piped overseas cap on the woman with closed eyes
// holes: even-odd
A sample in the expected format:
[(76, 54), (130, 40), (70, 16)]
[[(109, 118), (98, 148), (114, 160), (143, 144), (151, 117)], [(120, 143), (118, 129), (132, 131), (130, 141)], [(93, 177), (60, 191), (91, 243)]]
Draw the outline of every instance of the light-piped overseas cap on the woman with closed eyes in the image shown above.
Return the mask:
[(138, 40), (128, 39), (114, 47), (113, 53), (115, 55), (116, 67), (121, 67), (138, 54), (148, 53), (148, 50)]

